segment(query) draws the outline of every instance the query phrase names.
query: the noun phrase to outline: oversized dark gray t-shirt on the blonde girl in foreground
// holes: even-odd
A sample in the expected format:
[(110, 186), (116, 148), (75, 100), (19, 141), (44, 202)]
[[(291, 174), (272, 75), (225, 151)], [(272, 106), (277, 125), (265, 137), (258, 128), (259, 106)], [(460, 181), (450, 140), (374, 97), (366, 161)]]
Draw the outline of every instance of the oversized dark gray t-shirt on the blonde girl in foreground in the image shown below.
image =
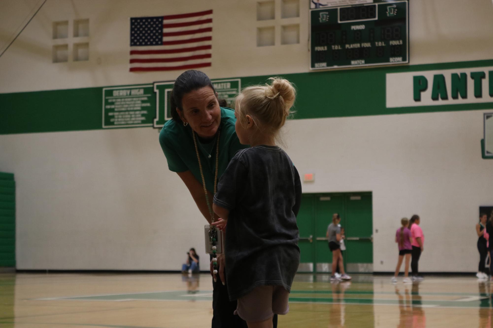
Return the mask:
[(277, 146), (239, 150), (221, 176), (214, 204), (229, 209), (226, 282), (231, 300), (257, 286), (291, 289), (300, 262), (296, 215), (301, 181)]

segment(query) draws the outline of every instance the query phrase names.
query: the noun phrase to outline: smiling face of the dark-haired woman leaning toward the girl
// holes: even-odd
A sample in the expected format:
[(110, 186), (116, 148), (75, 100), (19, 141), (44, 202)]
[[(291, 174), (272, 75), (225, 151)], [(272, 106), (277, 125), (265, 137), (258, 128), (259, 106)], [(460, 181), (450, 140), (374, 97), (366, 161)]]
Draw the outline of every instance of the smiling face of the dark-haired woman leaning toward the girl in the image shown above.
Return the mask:
[(221, 108), (217, 93), (211, 87), (197, 89), (183, 95), (183, 111), (177, 110), (181, 120), (188, 123), (199, 137), (212, 138), (221, 122)]

